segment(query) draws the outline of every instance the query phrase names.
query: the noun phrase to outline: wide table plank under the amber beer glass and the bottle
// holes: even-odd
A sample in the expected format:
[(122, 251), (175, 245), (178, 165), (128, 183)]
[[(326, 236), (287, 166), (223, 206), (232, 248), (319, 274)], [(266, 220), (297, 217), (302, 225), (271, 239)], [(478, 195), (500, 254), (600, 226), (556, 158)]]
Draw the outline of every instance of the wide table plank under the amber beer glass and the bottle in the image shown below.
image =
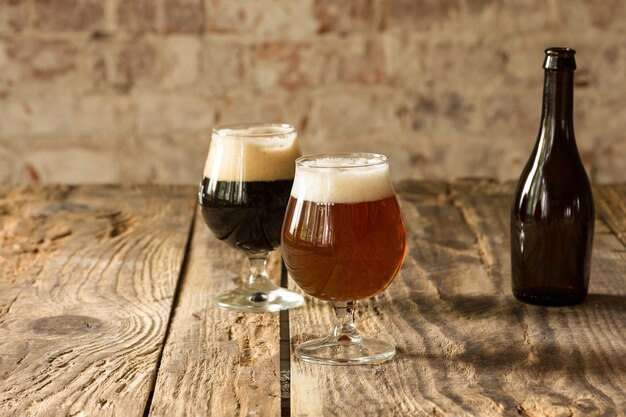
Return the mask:
[[(395, 343), (397, 357), (324, 367), (292, 355), (292, 416), (626, 415), (624, 245), (599, 225), (584, 304), (520, 303), (510, 291), (512, 190), (491, 181), (398, 187), (408, 255), (357, 313), (362, 333)], [(330, 307), (307, 301), (290, 312), (292, 351), (332, 326)]]

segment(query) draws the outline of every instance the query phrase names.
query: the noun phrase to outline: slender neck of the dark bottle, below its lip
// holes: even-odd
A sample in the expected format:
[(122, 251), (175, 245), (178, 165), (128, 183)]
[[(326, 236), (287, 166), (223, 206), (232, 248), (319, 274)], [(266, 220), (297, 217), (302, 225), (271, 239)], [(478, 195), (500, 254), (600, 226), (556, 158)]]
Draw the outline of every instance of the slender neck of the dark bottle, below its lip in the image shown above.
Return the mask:
[(574, 139), (573, 111), (574, 71), (546, 70), (542, 109), (544, 137)]

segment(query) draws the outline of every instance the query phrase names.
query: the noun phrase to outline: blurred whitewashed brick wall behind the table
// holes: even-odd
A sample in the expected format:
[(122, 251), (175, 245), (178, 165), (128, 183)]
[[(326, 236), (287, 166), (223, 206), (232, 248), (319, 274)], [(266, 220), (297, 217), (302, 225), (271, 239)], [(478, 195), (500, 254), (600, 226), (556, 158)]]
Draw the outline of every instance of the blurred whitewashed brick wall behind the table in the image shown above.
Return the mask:
[(0, 0), (0, 179), (195, 183), (244, 121), (396, 179), (513, 179), (548, 46), (578, 52), (592, 179), (625, 181), (623, 0)]

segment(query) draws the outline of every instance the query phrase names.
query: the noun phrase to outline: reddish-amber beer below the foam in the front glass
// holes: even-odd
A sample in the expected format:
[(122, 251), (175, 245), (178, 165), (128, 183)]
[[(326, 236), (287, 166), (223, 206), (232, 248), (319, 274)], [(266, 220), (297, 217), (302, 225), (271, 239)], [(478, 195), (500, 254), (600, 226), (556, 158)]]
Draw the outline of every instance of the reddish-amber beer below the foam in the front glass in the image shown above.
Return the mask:
[[(334, 200), (345, 200), (340, 197)], [(286, 218), (297, 220), (284, 229), (283, 257), (307, 294), (362, 300), (391, 283), (404, 258), (404, 224), (393, 194), (373, 197), (349, 203), (291, 197)]]

